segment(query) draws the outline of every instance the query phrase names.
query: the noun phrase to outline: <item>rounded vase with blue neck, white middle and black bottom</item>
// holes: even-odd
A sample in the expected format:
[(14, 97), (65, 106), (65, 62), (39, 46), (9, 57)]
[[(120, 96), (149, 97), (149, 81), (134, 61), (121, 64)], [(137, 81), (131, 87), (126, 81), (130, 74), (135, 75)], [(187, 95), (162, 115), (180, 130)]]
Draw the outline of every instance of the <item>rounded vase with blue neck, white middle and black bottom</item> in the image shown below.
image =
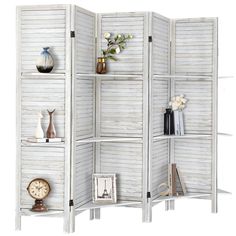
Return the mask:
[(53, 58), (48, 52), (48, 49), (49, 47), (43, 48), (43, 51), (36, 61), (36, 68), (40, 73), (49, 73), (53, 69)]

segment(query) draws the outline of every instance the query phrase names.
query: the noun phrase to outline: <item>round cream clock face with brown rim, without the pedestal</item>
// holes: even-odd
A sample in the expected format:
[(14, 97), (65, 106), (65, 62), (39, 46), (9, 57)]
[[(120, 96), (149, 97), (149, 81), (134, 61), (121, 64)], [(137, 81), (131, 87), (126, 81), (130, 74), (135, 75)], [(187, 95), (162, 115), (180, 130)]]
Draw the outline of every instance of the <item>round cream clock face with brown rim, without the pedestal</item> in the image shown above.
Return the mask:
[(27, 190), (32, 198), (41, 200), (48, 196), (50, 185), (44, 179), (34, 179), (30, 182)]

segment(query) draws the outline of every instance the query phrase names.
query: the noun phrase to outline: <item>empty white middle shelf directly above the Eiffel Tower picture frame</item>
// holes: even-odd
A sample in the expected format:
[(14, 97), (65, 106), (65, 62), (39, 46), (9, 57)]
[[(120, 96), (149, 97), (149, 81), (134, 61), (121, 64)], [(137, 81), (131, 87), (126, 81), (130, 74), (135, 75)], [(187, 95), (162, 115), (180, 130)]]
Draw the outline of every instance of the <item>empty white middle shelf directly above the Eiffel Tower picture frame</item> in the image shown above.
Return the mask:
[(95, 138), (76, 140), (76, 143), (100, 143), (100, 142), (142, 142), (142, 138), (95, 137)]

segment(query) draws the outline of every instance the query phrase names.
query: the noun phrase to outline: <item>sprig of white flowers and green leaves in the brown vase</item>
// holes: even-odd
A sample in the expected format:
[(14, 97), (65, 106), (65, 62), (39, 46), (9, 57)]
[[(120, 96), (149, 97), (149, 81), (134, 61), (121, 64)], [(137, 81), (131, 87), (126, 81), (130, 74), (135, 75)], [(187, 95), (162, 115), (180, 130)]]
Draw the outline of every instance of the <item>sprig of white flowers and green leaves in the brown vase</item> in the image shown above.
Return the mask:
[(104, 38), (107, 41), (107, 49), (102, 49), (102, 55), (105, 60), (117, 61), (115, 54), (119, 54), (125, 49), (126, 42), (133, 38), (130, 34), (116, 34), (104, 33)]

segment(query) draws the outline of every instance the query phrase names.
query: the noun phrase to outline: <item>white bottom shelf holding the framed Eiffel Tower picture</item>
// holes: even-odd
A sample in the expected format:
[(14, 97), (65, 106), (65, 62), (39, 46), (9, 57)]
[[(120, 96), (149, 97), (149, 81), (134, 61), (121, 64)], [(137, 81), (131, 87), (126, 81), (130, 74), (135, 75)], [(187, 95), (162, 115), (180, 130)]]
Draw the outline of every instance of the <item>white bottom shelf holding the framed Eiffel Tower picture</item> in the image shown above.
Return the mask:
[(108, 203), (108, 204), (98, 204), (93, 202), (88, 202), (76, 209), (76, 211), (84, 211), (95, 208), (104, 208), (104, 207), (118, 207), (118, 206), (132, 206), (132, 205), (141, 205), (139, 201), (118, 201), (117, 203)]

